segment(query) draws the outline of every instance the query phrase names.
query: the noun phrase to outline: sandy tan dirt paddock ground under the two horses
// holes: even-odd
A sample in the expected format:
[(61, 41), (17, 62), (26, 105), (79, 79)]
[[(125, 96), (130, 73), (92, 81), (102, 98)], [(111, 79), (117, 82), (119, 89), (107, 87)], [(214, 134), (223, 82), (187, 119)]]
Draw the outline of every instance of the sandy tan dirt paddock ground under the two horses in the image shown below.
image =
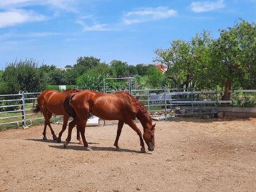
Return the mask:
[(157, 122), (155, 150), (145, 154), (127, 125), (119, 151), (116, 125), (87, 127), (94, 151), (77, 143), (75, 129), (66, 149), (49, 129), (43, 141), (42, 129), (0, 132), (0, 191), (256, 191), (253, 118)]

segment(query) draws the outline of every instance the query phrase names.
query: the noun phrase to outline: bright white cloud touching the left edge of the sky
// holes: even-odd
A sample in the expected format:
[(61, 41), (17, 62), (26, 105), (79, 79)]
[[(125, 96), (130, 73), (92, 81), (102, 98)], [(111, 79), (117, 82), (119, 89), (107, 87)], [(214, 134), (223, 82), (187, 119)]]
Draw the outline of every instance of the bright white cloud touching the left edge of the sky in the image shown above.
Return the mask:
[(14, 26), (27, 22), (38, 22), (46, 20), (46, 16), (37, 14), (31, 10), (14, 9), (0, 12), (0, 28)]

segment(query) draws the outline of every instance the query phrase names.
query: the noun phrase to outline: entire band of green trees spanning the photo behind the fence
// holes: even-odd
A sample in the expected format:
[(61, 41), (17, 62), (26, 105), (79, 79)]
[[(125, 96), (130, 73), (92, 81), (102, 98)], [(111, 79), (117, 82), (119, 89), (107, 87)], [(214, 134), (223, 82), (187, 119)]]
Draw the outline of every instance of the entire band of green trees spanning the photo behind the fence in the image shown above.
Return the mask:
[[(225, 90), (224, 100), (232, 89), (256, 87), (256, 26), (238, 20), (234, 26), (220, 30), (218, 39), (209, 31), (196, 34), (191, 41), (181, 39), (170, 42), (168, 49), (154, 50), (154, 64), (166, 66), (161, 73), (154, 65), (128, 65), (113, 60), (100, 62), (100, 58), (79, 57), (66, 71), (54, 65), (38, 66), (35, 60), (15, 61), (0, 73), (0, 94), (18, 90), (28, 92), (46, 89), (47, 84), (73, 84), (94, 89), (103, 86), (104, 78), (135, 77), (139, 88), (172, 87), (177, 89)], [(112, 82), (118, 86), (121, 82)]]

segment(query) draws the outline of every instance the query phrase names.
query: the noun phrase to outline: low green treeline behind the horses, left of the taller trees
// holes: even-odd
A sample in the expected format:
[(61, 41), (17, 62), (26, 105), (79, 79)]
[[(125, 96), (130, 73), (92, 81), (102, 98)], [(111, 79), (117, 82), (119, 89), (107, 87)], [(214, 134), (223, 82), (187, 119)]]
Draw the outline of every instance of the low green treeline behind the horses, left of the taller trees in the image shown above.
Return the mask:
[[(110, 64), (100, 62), (100, 58), (79, 57), (75, 65), (57, 68), (54, 65), (41, 65), (31, 59), (9, 63), (0, 73), (0, 95), (14, 94), (19, 90), (39, 92), (48, 85), (73, 85), (86, 89), (100, 90), (104, 78), (135, 77), (138, 87), (164, 86), (165, 75), (154, 65), (128, 65), (126, 62), (113, 60)], [(110, 81), (113, 89), (125, 84), (124, 81)]]

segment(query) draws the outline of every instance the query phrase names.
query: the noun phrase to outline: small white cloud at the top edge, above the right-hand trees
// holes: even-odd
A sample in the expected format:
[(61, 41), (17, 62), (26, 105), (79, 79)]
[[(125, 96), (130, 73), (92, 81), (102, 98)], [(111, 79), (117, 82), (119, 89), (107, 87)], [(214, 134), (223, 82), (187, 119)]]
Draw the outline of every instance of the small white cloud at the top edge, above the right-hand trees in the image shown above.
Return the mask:
[(225, 7), (224, 0), (218, 1), (193, 1), (190, 5), (191, 9), (196, 12), (207, 12), (210, 10), (221, 9)]

